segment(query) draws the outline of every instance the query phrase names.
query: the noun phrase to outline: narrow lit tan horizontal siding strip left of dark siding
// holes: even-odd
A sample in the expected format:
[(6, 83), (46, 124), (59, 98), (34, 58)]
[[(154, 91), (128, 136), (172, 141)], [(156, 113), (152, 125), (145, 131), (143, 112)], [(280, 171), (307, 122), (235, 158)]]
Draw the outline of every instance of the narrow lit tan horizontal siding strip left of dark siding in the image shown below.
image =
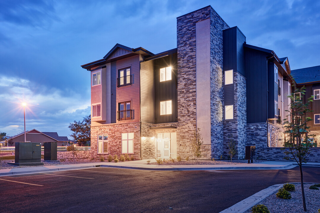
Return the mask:
[[(142, 61), (142, 56), (140, 57)], [(154, 61), (140, 63), (140, 117), (141, 122), (155, 122), (155, 73)]]

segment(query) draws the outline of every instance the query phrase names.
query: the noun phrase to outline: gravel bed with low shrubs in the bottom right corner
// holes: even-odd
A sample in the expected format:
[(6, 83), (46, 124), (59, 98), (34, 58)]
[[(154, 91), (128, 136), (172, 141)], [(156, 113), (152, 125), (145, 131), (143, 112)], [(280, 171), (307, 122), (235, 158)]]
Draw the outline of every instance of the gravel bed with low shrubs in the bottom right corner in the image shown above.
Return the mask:
[[(291, 199), (281, 199), (276, 197), (276, 193), (269, 195), (266, 199), (259, 202), (268, 207), (270, 213), (317, 213), (320, 209), (320, 190), (309, 189), (313, 184), (304, 184), (307, 211), (303, 211), (301, 184), (294, 184), (296, 191), (290, 192)], [(244, 213), (250, 213), (251, 209)]]

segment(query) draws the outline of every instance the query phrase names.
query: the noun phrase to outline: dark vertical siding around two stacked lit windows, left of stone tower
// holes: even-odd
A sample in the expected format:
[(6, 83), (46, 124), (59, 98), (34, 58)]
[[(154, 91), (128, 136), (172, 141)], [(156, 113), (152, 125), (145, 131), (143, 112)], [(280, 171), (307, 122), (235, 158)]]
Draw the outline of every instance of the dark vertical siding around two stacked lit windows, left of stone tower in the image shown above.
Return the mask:
[[(155, 123), (178, 121), (177, 54), (155, 59)], [(160, 82), (160, 68), (172, 67), (171, 80)], [(172, 100), (172, 114), (160, 115), (160, 101)]]

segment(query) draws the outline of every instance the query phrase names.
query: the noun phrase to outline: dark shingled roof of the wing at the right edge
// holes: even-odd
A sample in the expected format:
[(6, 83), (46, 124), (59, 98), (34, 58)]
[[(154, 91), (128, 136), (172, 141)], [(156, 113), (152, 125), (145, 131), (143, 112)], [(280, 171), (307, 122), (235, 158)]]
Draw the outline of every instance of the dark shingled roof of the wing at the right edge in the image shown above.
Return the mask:
[(297, 84), (319, 82), (320, 66), (291, 70), (291, 74), (294, 80), (297, 82)]

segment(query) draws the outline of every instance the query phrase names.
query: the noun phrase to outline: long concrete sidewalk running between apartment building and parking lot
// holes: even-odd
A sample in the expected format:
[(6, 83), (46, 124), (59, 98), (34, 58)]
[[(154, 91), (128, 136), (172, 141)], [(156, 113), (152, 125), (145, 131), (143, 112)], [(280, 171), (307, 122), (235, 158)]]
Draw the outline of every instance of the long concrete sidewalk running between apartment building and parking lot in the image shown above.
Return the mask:
[[(156, 162), (155, 159), (149, 159), (151, 163)], [(128, 161), (128, 162), (97, 162), (86, 164), (69, 164), (69, 165), (56, 165), (56, 166), (37, 166), (27, 168), (13, 168), (0, 170), (0, 176), (8, 175), (21, 175), (32, 174), (39, 172), (51, 172), (51, 171), (65, 171), (65, 170), (77, 170), (88, 169), (93, 167), (111, 167), (122, 169), (141, 169), (141, 170), (235, 170), (235, 169), (291, 169), (297, 164), (295, 162), (288, 161), (266, 161), (262, 163), (253, 164), (218, 164), (218, 165), (151, 165), (147, 164), (147, 160)], [(320, 163), (307, 163), (304, 166), (320, 166)]]

